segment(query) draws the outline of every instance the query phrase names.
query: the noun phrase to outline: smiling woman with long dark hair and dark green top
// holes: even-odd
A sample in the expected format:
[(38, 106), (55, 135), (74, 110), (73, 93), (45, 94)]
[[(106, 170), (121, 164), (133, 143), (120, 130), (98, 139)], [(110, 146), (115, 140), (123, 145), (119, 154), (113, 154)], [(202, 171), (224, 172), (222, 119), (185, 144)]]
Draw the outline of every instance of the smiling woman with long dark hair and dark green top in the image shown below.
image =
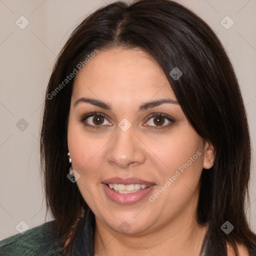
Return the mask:
[(256, 255), (237, 80), (176, 2), (115, 2), (73, 31), (46, 91), (41, 166), (55, 220), (1, 241), (3, 255)]

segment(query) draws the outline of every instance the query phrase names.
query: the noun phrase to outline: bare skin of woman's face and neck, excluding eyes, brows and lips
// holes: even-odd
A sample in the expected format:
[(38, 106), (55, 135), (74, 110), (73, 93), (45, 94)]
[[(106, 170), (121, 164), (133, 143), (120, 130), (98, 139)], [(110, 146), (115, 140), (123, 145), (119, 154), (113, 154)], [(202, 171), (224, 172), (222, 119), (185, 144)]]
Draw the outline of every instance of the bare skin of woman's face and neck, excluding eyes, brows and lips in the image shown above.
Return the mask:
[[(112, 110), (85, 102), (74, 106), (80, 97), (102, 100)], [(77, 186), (95, 214), (94, 253), (100, 256), (200, 254), (207, 227), (196, 221), (198, 182), (202, 168), (210, 168), (209, 160), (214, 162), (214, 148), (197, 134), (179, 104), (137, 111), (140, 104), (160, 98), (176, 100), (159, 64), (140, 49), (99, 50), (76, 75), (68, 149), (72, 168), (80, 175)], [(101, 126), (93, 117), (80, 121), (94, 111), (107, 117)], [(149, 120), (147, 116), (157, 112), (174, 122), (161, 117), (165, 127), (155, 128), (157, 116)], [(118, 127), (123, 118), (131, 123), (127, 131)], [(155, 201), (149, 201), (197, 151), (200, 156)], [(116, 176), (136, 177), (156, 186), (136, 203), (118, 204), (106, 196), (101, 183)], [(118, 228), (123, 221), (130, 227), (126, 233)]]

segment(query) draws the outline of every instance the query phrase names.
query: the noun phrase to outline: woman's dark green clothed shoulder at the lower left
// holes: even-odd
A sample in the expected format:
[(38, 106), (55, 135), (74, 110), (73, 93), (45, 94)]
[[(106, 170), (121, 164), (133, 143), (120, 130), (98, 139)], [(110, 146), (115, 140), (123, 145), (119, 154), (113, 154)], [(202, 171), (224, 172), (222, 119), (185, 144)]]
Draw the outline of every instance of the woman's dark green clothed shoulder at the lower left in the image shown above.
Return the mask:
[(51, 220), (24, 233), (0, 241), (0, 255), (62, 255), (60, 243), (55, 238), (56, 221)]

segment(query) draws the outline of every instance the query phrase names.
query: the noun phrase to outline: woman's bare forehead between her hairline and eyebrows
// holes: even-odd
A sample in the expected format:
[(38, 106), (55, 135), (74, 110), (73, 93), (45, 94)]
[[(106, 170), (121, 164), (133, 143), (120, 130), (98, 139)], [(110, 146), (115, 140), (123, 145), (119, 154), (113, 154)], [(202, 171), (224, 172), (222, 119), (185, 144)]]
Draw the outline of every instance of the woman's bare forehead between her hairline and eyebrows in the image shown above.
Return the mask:
[(99, 50), (75, 77), (72, 101), (91, 96), (108, 102), (175, 95), (161, 66), (143, 50)]

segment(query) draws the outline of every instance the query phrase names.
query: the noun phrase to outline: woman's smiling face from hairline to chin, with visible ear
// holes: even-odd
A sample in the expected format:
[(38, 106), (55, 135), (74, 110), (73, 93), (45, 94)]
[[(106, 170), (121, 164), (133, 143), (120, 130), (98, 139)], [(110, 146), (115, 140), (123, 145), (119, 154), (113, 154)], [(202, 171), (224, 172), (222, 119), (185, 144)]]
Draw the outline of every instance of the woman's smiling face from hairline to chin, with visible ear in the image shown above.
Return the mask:
[(99, 50), (76, 75), (68, 149), (77, 186), (105, 227), (138, 234), (195, 218), (208, 148), (144, 51)]

